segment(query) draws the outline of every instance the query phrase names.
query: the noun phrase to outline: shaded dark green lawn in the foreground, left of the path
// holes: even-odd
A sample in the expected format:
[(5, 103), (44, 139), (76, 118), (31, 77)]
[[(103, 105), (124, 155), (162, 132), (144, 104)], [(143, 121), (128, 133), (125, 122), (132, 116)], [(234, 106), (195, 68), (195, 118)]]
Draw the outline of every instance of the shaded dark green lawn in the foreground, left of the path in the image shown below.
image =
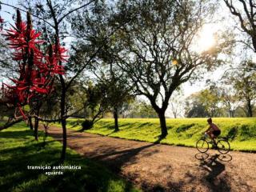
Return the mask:
[[(0, 122), (1, 123), (1, 122)], [(35, 142), (25, 123), (0, 132), (0, 191), (138, 191), (130, 183), (111, 173), (104, 166), (67, 150), (66, 166), (81, 170), (64, 170), (62, 175), (46, 175), (46, 170), (28, 170), (27, 166), (58, 165), (62, 149), (53, 138)]]

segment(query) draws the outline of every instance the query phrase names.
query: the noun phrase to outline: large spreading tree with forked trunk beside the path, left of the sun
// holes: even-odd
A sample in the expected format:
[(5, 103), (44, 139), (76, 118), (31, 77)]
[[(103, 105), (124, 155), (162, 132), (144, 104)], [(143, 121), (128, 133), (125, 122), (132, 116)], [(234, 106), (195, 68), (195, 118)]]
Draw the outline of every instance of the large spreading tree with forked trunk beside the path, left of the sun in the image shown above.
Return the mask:
[(168, 134), (165, 113), (174, 90), (219, 63), (221, 46), (203, 53), (193, 49), (205, 18), (214, 12), (211, 5), (206, 1), (118, 2), (114, 23), (126, 20), (127, 13), (136, 16), (115, 35), (116, 46), (109, 51), (130, 78), (134, 93), (150, 100), (162, 138)]

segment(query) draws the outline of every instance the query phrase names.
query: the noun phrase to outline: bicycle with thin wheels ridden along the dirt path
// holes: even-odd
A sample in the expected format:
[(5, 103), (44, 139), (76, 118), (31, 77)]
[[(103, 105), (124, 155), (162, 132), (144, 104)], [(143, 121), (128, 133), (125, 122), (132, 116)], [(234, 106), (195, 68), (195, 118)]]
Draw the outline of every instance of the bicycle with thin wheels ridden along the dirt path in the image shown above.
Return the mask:
[[(208, 137), (208, 134), (204, 134), (204, 136), (200, 138), (196, 143), (196, 147), (199, 152), (206, 153), (207, 150), (210, 149), (209, 144), (215, 146), (211, 138)], [(230, 151), (230, 142), (228, 141), (227, 138), (218, 138), (217, 145), (215, 147), (217, 148), (219, 153), (227, 154)]]

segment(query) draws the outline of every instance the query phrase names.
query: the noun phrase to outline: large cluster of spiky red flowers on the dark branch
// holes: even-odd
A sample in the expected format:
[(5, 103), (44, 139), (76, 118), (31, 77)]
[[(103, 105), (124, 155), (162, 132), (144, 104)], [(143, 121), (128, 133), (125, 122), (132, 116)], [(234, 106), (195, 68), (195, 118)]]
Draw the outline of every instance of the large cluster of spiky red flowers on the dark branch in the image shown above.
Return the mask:
[[(60, 61), (66, 61), (66, 49), (55, 43), (49, 46), (46, 54), (42, 53), (39, 45), (42, 44), (41, 33), (37, 33), (32, 26), (30, 13), (27, 13), (26, 22), (17, 10), (15, 26), (6, 30), (6, 40), (10, 49), (14, 50), (13, 59), (18, 62), (18, 78), (10, 78), (14, 85), (2, 84), (2, 93), (7, 102), (16, 107), (16, 114), (26, 114), (22, 110), (30, 101), (50, 94), (53, 90), (55, 74), (64, 74)], [(57, 45), (57, 46), (56, 46)]]

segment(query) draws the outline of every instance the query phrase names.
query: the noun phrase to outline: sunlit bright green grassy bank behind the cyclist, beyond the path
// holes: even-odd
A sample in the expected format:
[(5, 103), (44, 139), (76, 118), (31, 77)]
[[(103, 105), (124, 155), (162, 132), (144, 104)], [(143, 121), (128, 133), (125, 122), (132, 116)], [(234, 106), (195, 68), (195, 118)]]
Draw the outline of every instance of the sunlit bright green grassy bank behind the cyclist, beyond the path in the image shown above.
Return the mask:
[[(213, 118), (213, 121), (221, 128), (221, 136), (229, 137), (232, 150), (256, 151), (256, 118)], [(67, 126), (80, 130), (81, 122), (78, 119), (68, 119)], [(169, 134), (161, 143), (176, 146), (195, 146), (207, 128), (206, 118), (166, 119), (166, 123)], [(160, 134), (157, 118), (119, 119), (119, 128), (118, 132), (114, 132), (114, 119), (102, 119), (91, 130), (86, 131), (146, 142), (156, 142)]]

